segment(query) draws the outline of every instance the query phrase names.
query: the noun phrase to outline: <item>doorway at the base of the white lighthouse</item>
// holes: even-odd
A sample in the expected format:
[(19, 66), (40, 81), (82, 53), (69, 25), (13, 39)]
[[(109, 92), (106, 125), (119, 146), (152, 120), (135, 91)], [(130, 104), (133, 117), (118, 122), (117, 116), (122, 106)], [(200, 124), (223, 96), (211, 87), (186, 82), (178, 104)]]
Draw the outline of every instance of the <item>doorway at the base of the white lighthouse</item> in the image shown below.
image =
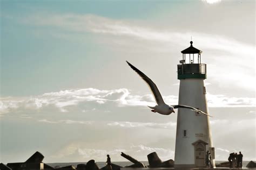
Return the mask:
[(196, 167), (205, 167), (205, 146), (202, 143), (195, 145), (195, 164)]

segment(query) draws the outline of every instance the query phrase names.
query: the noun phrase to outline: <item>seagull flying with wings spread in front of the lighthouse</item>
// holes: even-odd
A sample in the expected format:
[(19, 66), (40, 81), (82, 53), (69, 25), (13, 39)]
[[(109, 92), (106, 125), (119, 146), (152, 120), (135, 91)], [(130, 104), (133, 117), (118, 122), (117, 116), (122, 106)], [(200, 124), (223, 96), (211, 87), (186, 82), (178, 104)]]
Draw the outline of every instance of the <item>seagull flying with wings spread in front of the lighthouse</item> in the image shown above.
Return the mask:
[[(152, 109), (151, 110), (152, 112), (158, 112), (161, 115), (170, 115), (170, 114), (172, 114), (172, 112), (175, 113), (174, 109), (187, 108), (187, 109), (191, 109), (193, 111), (199, 112), (200, 114), (210, 116), (201, 110), (198, 110), (193, 107), (189, 107), (187, 105), (180, 105), (180, 104), (179, 105), (167, 105), (167, 104), (165, 104), (156, 84), (148, 76), (146, 76), (144, 73), (142, 73), (138, 68), (134, 67), (130, 62), (128, 62), (128, 61), (126, 61), (126, 62), (136, 73), (139, 74), (140, 77), (142, 77), (142, 79), (147, 83), (147, 85), (149, 85), (149, 87), (154, 95), (154, 98), (156, 99), (156, 102), (158, 104), (155, 107), (147, 106)], [(210, 116), (210, 117), (212, 117), (212, 116)]]

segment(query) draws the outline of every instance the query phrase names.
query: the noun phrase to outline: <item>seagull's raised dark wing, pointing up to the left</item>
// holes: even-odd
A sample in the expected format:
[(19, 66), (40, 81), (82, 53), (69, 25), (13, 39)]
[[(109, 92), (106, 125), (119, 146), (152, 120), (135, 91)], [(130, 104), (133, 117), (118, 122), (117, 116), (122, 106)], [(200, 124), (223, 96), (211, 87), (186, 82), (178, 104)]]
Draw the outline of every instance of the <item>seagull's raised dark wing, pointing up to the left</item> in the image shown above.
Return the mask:
[(134, 67), (130, 62), (128, 62), (128, 61), (126, 61), (126, 62), (136, 73), (139, 74), (140, 77), (142, 77), (142, 79), (147, 83), (147, 85), (149, 85), (149, 87), (154, 95), (154, 98), (156, 99), (157, 104), (158, 105), (165, 104), (156, 84), (149, 77), (147, 77), (144, 73), (142, 73), (138, 68)]

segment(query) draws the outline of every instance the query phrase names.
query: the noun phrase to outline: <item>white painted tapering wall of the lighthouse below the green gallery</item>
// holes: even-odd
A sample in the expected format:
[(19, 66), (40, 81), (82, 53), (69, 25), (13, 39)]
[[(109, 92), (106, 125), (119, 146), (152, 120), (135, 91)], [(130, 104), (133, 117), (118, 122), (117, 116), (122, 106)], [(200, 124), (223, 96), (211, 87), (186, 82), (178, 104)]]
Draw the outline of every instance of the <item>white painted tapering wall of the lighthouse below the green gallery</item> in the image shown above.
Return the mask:
[[(203, 79), (180, 80), (179, 104), (199, 108), (208, 114), (204, 86)], [(184, 130), (187, 131), (186, 137), (183, 136)], [(174, 164), (176, 166), (194, 165), (194, 145), (192, 143), (201, 139), (208, 143), (206, 145), (208, 150), (208, 147), (212, 147), (211, 136), (208, 116), (197, 115), (190, 109), (178, 109)]]

